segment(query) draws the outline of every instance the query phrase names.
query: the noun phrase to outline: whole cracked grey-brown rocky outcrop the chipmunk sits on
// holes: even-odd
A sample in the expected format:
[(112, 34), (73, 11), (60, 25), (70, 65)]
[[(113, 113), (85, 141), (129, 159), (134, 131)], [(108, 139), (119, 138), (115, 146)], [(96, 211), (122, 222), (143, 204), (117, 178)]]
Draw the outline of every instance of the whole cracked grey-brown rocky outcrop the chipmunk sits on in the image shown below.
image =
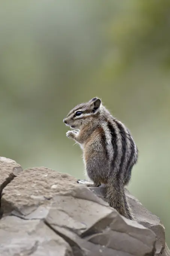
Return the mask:
[(0, 255), (169, 255), (161, 221), (128, 191), (137, 221), (102, 199), (104, 187), (44, 167), (23, 171), (7, 158), (0, 158), (0, 188)]

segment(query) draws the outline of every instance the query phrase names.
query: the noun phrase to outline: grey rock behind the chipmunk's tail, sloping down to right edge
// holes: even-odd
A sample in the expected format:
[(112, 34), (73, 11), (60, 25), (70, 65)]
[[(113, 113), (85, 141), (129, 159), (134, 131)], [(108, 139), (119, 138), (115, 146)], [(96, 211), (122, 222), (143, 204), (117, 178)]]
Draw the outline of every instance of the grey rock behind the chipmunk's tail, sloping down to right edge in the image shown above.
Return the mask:
[[(100, 198), (105, 196), (105, 187), (90, 187), (90, 189), (98, 195)], [(126, 189), (126, 197), (129, 201), (129, 204), (132, 208), (135, 219), (138, 223), (143, 226), (151, 229), (156, 234), (156, 252), (155, 255), (164, 255), (162, 253), (170, 253), (169, 249), (165, 248), (165, 228), (161, 220), (149, 212), (137, 198), (132, 196), (129, 191)], [(166, 251), (166, 252), (165, 252)], [(168, 255), (168, 254), (165, 254)]]

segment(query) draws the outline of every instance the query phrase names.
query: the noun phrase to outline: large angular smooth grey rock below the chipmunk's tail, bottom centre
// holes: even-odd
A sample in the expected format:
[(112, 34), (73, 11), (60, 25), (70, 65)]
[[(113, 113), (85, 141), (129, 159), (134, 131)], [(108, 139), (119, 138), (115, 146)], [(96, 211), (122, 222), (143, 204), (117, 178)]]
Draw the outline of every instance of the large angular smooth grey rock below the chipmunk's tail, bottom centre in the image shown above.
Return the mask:
[[(86, 255), (99, 255), (99, 252), (103, 253), (100, 255), (154, 255), (153, 232), (123, 218), (93, 195), (92, 201), (84, 196), (82, 199), (81, 195), (88, 191), (86, 187), (77, 190), (76, 200), (75, 193), (58, 196), (46, 218), (47, 223), (72, 244), (77, 251), (76, 254), (73, 249), (74, 255), (83, 255), (88, 248)], [(90, 195), (89, 191), (87, 194)]]

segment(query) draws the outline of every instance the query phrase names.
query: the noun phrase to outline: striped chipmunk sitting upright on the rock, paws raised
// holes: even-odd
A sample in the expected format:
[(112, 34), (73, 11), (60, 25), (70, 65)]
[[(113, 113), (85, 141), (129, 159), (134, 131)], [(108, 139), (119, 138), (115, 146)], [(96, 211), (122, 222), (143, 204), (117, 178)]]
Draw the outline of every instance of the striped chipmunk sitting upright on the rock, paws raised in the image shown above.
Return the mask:
[(87, 186), (106, 186), (105, 201), (121, 215), (133, 219), (125, 186), (137, 163), (138, 148), (126, 126), (115, 119), (95, 97), (74, 107), (63, 122), (75, 129), (66, 136), (83, 150)]

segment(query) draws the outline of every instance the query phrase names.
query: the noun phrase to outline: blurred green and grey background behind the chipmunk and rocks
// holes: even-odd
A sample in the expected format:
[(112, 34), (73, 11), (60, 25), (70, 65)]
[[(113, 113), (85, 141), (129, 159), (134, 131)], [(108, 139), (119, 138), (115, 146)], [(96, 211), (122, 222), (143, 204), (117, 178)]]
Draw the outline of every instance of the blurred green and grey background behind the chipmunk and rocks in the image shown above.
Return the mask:
[(0, 155), (84, 178), (63, 118), (95, 96), (132, 132), (129, 190), (170, 247), (170, 1), (1, 1)]

